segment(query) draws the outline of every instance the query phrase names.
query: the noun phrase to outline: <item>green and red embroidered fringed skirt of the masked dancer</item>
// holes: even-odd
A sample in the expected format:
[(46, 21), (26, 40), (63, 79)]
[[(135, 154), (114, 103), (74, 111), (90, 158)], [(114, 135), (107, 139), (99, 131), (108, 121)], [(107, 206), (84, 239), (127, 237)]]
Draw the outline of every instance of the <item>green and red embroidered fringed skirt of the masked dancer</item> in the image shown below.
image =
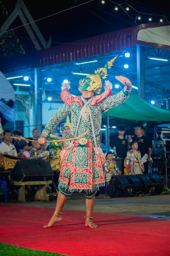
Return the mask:
[[(105, 184), (100, 154), (92, 150), (92, 143), (81, 145), (75, 141), (62, 158), (60, 182), (69, 184), (69, 191), (93, 191)], [(100, 150), (99, 150), (100, 151)], [(102, 152), (102, 150), (101, 150)]]

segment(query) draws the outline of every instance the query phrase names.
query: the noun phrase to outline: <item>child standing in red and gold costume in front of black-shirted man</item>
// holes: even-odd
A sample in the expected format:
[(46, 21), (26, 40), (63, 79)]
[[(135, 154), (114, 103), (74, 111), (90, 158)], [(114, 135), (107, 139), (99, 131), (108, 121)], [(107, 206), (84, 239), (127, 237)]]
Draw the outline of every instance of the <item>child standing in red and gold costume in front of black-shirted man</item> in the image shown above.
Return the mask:
[[(142, 162), (141, 153), (138, 148), (138, 144), (136, 141), (132, 141), (130, 143), (130, 147), (132, 148), (127, 152), (126, 155), (126, 173), (125, 174), (143, 174), (144, 173), (144, 164)], [(125, 170), (124, 170), (125, 171)]]

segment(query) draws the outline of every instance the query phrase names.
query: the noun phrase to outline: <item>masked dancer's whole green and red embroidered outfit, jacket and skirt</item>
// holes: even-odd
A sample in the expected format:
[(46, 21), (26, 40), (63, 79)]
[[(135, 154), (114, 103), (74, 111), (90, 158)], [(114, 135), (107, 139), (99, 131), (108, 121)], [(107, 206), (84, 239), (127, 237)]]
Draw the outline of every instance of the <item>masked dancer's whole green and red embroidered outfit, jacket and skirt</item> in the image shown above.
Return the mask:
[[(126, 90), (125, 87), (112, 96), (110, 88), (107, 87), (105, 92), (87, 102), (82, 96), (72, 96), (68, 89), (61, 91), (61, 98), (65, 103), (52, 115), (41, 136), (48, 137), (62, 119), (70, 114), (70, 138), (87, 132), (84, 138), (71, 141), (66, 150), (63, 149), (63, 154), (63, 150), (61, 151), (63, 157), (59, 182), (65, 187), (68, 186), (71, 192), (93, 191), (93, 188), (105, 184), (102, 170), (104, 161), (101, 161), (103, 153), (100, 148), (102, 113), (123, 103), (128, 99), (130, 92), (131, 89)], [(105, 160), (105, 156), (103, 159)]]

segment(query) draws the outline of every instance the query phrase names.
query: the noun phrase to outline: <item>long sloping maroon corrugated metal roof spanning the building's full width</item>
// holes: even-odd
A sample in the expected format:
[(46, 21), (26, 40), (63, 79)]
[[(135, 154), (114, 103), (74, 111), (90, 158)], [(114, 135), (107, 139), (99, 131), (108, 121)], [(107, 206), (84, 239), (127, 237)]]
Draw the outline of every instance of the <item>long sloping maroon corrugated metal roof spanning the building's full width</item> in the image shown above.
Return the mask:
[[(155, 45), (153, 43), (137, 40), (137, 33), (141, 29), (161, 27), (165, 25), (169, 25), (169, 23), (147, 23), (99, 36), (85, 38), (69, 44), (42, 49), (37, 51), (33, 56), (25, 55), (17, 57), (12, 62), (5, 60), (5, 63), (3, 63), (3, 66), (1, 67), (1, 71), (6, 73), (26, 68), (45, 67), (57, 63), (106, 54), (111, 51), (133, 48), (137, 44), (154, 47)], [(159, 48), (161, 48), (161, 45), (159, 45)]]

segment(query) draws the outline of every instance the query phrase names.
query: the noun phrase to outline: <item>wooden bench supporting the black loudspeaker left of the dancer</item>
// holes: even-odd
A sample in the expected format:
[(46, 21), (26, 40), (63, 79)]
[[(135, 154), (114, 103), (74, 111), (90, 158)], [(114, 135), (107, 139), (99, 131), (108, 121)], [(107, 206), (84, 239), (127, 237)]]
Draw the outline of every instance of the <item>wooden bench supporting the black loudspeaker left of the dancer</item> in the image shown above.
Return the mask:
[(19, 189), (18, 201), (26, 202), (25, 198), (25, 185), (36, 185), (36, 194), (34, 197), (34, 201), (49, 201), (49, 197), (47, 195), (47, 186), (48, 184), (52, 184), (52, 180), (48, 181), (12, 181), (14, 186), (21, 186)]

